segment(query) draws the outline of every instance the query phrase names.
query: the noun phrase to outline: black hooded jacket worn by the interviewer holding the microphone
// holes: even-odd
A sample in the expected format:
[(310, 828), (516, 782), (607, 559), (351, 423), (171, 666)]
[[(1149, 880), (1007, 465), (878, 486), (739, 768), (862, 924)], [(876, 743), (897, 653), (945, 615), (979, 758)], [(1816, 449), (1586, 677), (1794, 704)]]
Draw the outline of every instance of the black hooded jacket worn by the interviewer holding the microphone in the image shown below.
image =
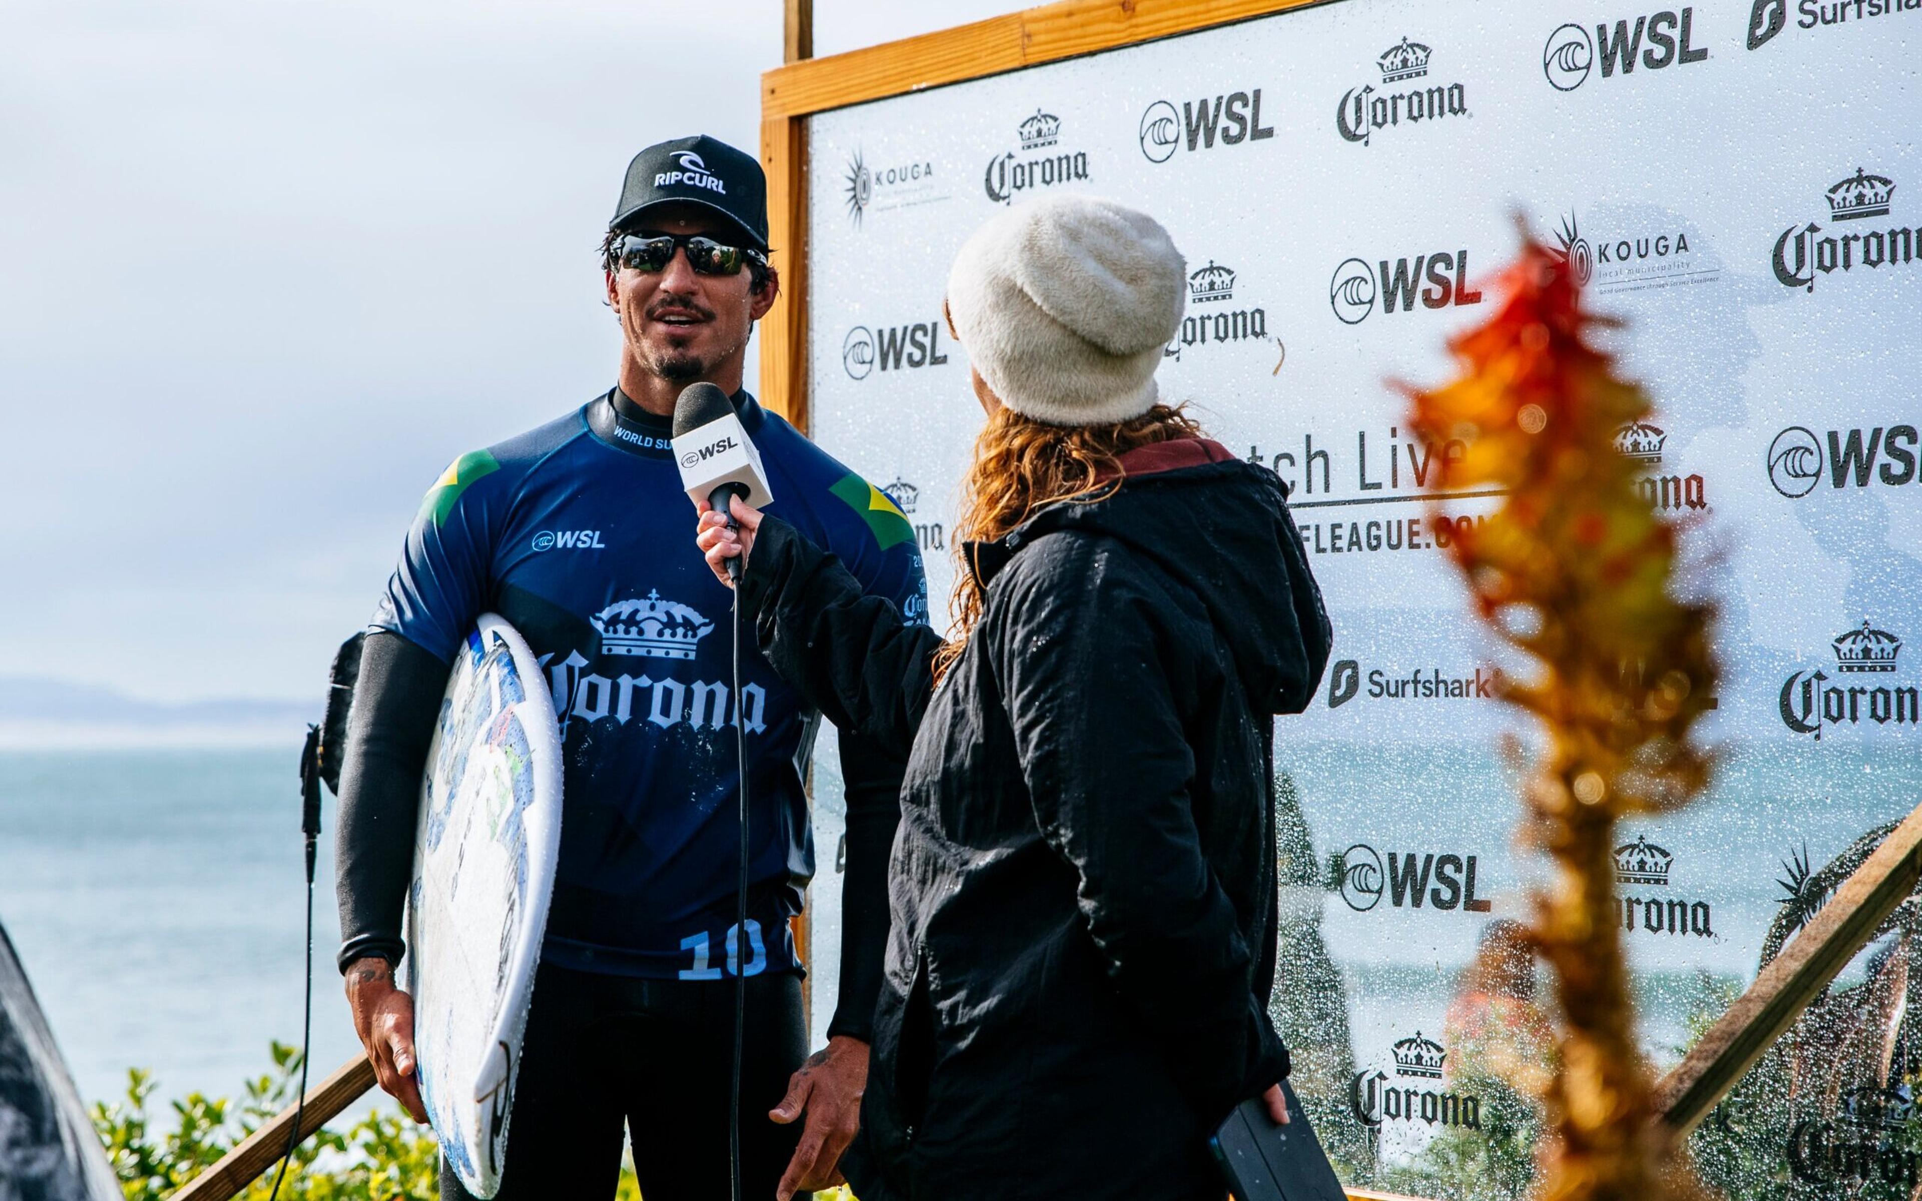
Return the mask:
[(909, 748), (863, 1201), (1220, 1197), (1207, 1134), (1288, 1074), (1272, 715), (1328, 619), (1272, 473), (1201, 440), (1122, 467), (969, 548), (986, 605), (940, 688), (940, 640), (792, 527), (750, 555), (769, 661)]

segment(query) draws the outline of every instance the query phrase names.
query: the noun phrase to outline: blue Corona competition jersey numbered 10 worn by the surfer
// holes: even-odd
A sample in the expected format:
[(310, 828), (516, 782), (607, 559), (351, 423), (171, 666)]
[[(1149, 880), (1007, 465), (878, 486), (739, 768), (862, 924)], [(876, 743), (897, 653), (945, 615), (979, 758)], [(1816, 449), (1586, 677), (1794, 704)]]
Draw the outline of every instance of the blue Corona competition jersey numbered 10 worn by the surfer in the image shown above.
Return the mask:
[[(801, 778), (813, 715), (753, 648), (732, 690), (732, 592), (694, 546), (671, 421), (625, 396), (465, 453), (429, 490), (375, 628), (452, 661), (480, 613), (505, 617), (561, 713), (561, 863), (544, 957), (628, 976), (796, 970), (788, 919), (815, 870)], [(767, 511), (924, 621), (915, 530), (746, 392)], [(750, 922), (734, 951), (734, 723), (750, 763)]]

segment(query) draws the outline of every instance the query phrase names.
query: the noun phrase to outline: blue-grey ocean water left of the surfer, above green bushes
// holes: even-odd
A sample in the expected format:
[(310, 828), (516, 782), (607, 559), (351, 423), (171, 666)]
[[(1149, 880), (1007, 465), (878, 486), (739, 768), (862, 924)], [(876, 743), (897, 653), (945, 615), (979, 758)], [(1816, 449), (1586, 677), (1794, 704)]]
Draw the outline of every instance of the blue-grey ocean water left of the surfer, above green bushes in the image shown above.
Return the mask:
[[(81, 1095), (236, 1095), (300, 1042), (300, 746), (0, 751), (0, 922)], [(315, 880), (313, 1074), (359, 1042), (334, 949), (333, 797)]]

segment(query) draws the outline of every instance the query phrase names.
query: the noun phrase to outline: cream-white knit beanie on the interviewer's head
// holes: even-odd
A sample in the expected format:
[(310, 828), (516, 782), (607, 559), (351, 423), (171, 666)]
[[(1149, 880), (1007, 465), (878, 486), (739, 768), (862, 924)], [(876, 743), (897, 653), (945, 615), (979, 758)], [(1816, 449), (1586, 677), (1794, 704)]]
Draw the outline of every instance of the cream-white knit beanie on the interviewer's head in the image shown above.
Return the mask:
[(1153, 407), (1184, 284), (1180, 252), (1147, 213), (1049, 196), (974, 231), (948, 277), (948, 311), (1009, 409), (1049, 425), (1109, 425)]

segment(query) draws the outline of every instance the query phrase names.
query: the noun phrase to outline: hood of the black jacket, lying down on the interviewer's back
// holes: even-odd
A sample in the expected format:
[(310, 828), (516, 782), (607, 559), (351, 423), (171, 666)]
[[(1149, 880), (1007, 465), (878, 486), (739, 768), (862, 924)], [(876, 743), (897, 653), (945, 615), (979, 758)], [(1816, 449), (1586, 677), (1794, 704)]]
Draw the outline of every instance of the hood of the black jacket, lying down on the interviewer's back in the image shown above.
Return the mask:
[(971, 546), (976, 575), (986, 582), (1055, 530), (1115, 538), (1201, 600), (1255, 707), (1305, 709), (1334, 634), (1280, 478), (1199, 438), (1144, 446), (1121, 463), (1113, 496), (1051, 505), (999, 542)]

